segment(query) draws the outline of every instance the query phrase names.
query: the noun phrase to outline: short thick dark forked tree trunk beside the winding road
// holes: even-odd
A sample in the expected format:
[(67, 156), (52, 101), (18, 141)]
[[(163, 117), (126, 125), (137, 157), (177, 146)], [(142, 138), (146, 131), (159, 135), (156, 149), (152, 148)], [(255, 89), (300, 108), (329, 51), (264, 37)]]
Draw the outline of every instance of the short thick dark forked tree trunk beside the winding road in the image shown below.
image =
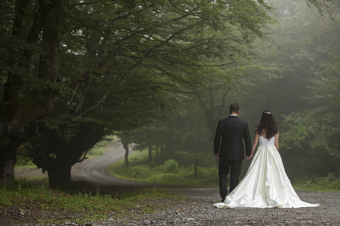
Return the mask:
[(50, 188), (68, 190), (72, 183), (72, 165), (82, 162), (84, 152), (92, 148), (104, 135), (104, 129), (79, 126), (77, 133), (65, 141), (56, 130), (46, 130), (43, 136), (31, 141), (34, 148), (32, 162), (42, 168), (43, 172), (48, 172)]

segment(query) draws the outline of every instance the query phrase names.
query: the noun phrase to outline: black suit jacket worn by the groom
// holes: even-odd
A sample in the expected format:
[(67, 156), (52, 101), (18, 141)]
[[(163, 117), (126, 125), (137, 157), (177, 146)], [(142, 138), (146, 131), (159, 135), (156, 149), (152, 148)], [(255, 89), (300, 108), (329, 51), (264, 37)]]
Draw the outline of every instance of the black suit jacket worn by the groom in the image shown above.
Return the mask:
[(214, 154), (220, 153), (220, 159), (225, 160), (244, 159), (243, 138), (245, 154), (250, 156), (251, 141), (248, 123), (234, 115), (219, 120), (214, 140)]

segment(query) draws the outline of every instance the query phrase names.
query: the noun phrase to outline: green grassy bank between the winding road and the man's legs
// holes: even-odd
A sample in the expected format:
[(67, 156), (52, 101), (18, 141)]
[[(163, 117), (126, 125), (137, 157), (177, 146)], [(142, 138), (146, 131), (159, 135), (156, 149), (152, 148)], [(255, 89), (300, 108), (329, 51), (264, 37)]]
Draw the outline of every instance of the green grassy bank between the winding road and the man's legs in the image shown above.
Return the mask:
[[(155, 156), (155, 153), (153, 153)], [(197, 168), (197, 178), (194, 177), (193, 165), (179, 167), (172, 159), (157, 165), (155, 162), (148, 163), (148, 151), (134, 151), (129, 156), (129, 165), (125, 166), (124, 159), (112, 164), (108, 172), (112, 175), (128, 180), (142, 182), (154, 182), (160, 184), (176, 184), (194, 187), (218, 187), (218, 169), (216, 166), (210, 168)]]

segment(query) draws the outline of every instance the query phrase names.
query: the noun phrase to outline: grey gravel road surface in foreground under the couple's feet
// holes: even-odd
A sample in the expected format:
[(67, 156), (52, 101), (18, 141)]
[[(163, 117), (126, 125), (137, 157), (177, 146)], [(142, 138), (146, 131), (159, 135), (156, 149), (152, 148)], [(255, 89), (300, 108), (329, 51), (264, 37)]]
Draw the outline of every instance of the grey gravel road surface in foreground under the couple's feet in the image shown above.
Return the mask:
[[(160, 198), (136, 203), (126, 213), (112, 213), (108, 219), (88, 222), (91, 225), (340, 225), (340, 194), (335, 192), (296, 191), (300, 199), (320, 203), (320, 207), (273, 209), (218, 209), (218, 188), (172, 189), (184, 196), (178, 199)], [(146, 212), (151, 208), (151, 211)]]

